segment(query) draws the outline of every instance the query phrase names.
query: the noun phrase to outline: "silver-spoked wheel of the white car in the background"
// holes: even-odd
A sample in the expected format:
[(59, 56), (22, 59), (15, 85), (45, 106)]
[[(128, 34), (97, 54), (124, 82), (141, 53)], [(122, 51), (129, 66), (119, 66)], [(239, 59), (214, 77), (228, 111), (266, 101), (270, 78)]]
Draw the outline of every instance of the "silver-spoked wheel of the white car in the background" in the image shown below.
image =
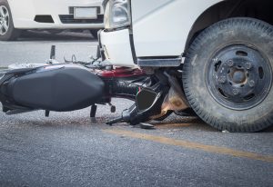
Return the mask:
[(15, 29), (10, 7), (6, 0), (0, 0), (0, 40), (12, 41), (20, 35)]

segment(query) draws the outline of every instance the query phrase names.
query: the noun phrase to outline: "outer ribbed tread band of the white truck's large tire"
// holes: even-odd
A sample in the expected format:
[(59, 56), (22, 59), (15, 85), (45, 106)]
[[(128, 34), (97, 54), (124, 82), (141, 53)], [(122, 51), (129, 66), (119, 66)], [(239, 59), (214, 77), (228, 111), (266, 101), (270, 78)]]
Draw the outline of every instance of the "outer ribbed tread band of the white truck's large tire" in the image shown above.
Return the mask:
[(227, 20), (223, 20), (218, 22), (215, 25), (212, 25), (205, 29), (201, 34), (197, 36), (197, 38), (193, 41), (193, 43), (189, 46), (186, 54), (186, 61), (184, 64), (184, 73), (183, 73), (183, 87), (185, 90), (185, 94), (188, 99), (188, 103), (191, 105), (193, 110), (197, 113), (197, 115), (204, 120), (206, 123), (209, 123), (213, 127), (217, 128), (218, 130), (227, 130), (229, 132), (257, 132), (263, 130), (270, 126), (273, 122), (273, 113), (270, 113), (268, 118), (264, 120), (260, 120), (260, 123), (249, 123), (249, 122), (239, 122), (241, 125), (232, 125), (230, 123), (221, 122), (213, 113), (207, 113), (207, 111), (203, 110), (202, 107), (196, 101), (195, 93), (192, 91), (192, 85), (190, 82), (191, 77), (191, 60), (195, 57), (197, 48), (200, 43), (203, 42), (203, 38), (210, 38), (213, 31), (216, 29), (221, 29), (226, 26), (234, 26), (234, 27), (245, 27), (248, 29), (249, 27), (255, 27), (259, 31), (266, 33), (268, 35), (273, 35), (273, 28), (272, 25), (268, 25), (265, 22), (259, 21), (254, 18), (246, 18), (246, 17), (239, 17), (239, 18), (229, 18)]

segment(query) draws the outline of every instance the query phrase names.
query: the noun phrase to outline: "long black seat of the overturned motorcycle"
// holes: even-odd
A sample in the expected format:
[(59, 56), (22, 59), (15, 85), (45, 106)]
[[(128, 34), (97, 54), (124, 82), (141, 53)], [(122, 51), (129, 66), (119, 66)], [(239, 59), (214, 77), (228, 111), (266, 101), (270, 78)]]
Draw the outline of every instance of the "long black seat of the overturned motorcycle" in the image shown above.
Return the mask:
[(4, 112), (68, 112), (98, 103), (104, 89), (104, 82), (88, 69), (56, 64), (6, 73), (0, 80), (0, 100)]

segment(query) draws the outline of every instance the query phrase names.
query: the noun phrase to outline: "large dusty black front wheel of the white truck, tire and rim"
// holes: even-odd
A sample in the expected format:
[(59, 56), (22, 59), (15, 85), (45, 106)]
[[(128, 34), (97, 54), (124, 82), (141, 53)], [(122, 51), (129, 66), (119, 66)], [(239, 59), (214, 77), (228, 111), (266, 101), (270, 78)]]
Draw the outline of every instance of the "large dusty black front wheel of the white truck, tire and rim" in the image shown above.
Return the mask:
[(258, 132), (273, 123), (273, 26), (253, 18), (211, 25), (190, 45), (187, 100), (218, 130)]

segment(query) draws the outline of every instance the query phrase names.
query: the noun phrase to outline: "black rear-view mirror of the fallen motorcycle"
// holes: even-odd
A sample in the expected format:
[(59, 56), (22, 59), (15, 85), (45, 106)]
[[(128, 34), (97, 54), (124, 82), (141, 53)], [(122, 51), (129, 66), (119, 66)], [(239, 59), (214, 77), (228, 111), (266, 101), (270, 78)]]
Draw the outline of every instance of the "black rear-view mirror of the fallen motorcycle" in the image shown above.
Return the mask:
[(157, 93), (153, 90), (143, 89), (136, 94), (136, 107), (138, 112), (145, 112), (151, 108), (157, 100)]

